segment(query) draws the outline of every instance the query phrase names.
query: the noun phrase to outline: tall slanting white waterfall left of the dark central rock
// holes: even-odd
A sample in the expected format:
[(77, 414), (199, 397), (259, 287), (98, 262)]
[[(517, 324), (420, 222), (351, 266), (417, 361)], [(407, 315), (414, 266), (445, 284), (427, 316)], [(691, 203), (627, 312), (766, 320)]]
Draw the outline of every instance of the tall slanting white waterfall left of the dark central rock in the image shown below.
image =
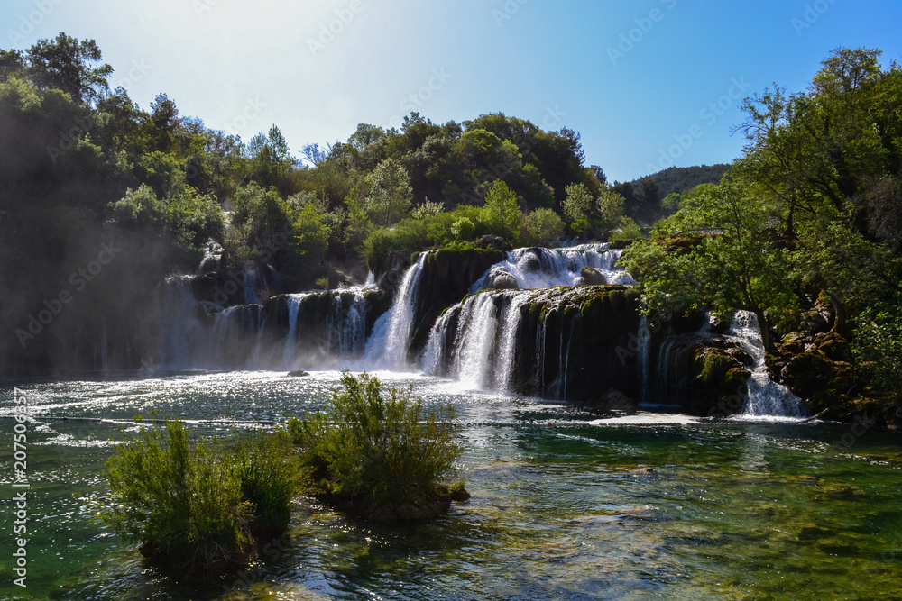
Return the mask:
[(366, 343), (364, 358), (367, 364), (380, 369), (408, 369), (407, 352), (417, 305), (419, 278), (427, 253), (419, 255), (401, 279), (391, 310), (383, 314), (373, 326), (373, 334)]

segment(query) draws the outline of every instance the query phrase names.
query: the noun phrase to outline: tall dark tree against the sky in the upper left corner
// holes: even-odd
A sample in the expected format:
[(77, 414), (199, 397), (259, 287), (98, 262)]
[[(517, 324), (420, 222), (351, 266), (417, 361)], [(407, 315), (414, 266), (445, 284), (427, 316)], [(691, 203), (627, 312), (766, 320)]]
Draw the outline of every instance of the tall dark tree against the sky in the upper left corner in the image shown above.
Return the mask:
[(58, 88), (76, 102), (94, 103), (109, 89), (113, 68), (103, 64), (97, 42), (78, 41), (60, 32), (55, 40), (39, 40), (28, 49), (29, 77), (41, 89)]

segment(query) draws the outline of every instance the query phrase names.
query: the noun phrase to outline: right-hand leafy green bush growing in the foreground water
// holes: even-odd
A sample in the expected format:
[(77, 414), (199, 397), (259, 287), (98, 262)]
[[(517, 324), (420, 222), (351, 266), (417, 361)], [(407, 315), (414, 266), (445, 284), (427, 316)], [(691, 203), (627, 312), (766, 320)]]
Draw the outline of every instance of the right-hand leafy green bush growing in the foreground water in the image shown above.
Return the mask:
[(427, 408), (410, 393), (383, 391), (378, 378), (345, 371), (328, 413), (292, 419), (289, 432), (314, 495), (357, 514), (404, 518), (401, 508), (437, 507), (452, 492), (446, 481), (463, 452), (455, 415), (451, 405)]

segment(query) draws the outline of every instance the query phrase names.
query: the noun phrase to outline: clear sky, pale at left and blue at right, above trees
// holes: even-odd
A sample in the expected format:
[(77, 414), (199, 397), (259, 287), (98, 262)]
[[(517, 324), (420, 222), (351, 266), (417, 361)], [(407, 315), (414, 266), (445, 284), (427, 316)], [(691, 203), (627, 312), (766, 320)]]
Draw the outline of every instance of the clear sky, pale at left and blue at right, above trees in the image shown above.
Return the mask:
[(93, 38), (112, 87), (291, 149), (417, 110), (582, 134), (611, 180), (729, 162), (741, 98), (803, 90), (837, 47), (902, 61), (897, 0), (5, 0), (0, 47)]

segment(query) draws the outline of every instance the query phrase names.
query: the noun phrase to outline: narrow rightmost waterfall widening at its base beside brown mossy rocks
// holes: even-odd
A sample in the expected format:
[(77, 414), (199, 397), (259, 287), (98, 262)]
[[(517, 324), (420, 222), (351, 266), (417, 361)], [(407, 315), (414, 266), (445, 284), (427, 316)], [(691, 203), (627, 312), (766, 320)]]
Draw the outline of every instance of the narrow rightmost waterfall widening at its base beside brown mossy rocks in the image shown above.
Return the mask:
[(745, 414), (749, 416), (804, 417), (802, 401), (785, 386), (770, 379), (764, 364), (764, 342), (758, 327), (758, 318), (748, 311), (739, 311), (733, 317), (729, 336), (741, 344), (742, 349), (755, 360), (749, 378), (749, 400)]

